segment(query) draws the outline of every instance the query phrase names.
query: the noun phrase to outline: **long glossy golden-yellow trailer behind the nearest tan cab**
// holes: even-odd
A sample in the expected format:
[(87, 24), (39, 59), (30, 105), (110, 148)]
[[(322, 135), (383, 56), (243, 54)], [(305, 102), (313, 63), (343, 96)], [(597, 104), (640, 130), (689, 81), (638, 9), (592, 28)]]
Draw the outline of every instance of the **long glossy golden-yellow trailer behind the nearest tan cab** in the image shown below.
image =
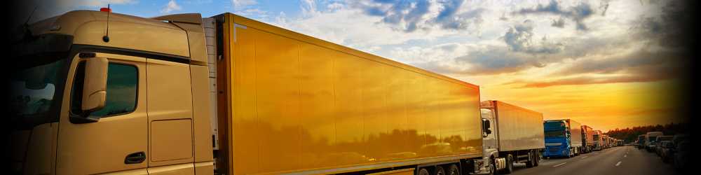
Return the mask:
[(218, 170), (335, 174), (482, 155), (477, 85), (238, 15), (215, 19)]

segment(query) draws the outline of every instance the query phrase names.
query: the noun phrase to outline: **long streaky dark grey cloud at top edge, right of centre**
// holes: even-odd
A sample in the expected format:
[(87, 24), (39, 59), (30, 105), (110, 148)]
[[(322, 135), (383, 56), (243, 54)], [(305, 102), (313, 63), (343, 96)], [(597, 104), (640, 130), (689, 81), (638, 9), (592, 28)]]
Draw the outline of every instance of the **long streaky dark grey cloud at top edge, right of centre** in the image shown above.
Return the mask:
[(573, 20), (576, 24), (576, 29), (586, 31), (589, 28), (584, 24), (584, 20), (592, 16), (594, 9), (589, 3), (579, 3), (576, 6), (572, 6), (569, 9), (563, 9), (560, 7), (557, 1), (550, 1), (547, 5), (538, 4), (538, 6), (533, 8), (522, 8), (514, 12), (515, 14), (528, 15), (528, 14), (551, 14), (559, 15), (561, 18), (569, 18)]

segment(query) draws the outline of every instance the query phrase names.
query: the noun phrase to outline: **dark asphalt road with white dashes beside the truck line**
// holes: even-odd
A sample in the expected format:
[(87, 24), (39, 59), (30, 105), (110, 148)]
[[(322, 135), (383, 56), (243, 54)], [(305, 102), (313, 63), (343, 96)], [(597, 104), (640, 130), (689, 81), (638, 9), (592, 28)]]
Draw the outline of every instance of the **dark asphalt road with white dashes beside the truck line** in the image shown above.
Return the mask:
[(514, 173), (522, 174), (679, 174), (671, 164), (665, 164), (655, 153), (634, 146), (608, 148), (578, 155), (574, 158), (541, 160), (540, 166), (526, 168), (525, 164), (516, 164)]

